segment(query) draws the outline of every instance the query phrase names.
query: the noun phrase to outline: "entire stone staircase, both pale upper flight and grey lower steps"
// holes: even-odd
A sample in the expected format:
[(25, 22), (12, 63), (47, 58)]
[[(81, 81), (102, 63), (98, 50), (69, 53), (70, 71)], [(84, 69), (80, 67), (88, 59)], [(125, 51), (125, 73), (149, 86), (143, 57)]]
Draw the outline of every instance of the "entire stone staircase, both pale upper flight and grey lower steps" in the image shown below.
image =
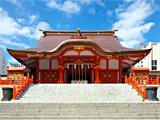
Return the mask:
[(143, 102), (125, 84), (33, 84), (0, 102), (0, 120), (158, 120), (160, 102)]

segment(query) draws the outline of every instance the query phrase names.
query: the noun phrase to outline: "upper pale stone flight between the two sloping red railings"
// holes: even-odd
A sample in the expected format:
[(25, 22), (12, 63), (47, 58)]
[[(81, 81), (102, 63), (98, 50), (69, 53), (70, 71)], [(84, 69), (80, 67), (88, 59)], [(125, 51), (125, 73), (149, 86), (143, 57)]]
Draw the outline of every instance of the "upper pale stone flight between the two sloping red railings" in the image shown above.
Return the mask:
[(17, 102), (106, 103), (142, 100), (126, 84), (32, 84), (23, 91)]

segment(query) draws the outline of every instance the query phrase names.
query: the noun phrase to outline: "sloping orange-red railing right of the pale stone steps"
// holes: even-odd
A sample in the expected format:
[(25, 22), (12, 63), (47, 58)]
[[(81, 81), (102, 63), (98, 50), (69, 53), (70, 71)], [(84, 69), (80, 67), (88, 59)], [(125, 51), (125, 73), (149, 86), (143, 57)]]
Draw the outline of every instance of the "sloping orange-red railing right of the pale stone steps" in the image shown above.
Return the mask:
[(138, 83), (138, 81), (131, 76), (129, 78), (125, 78), (126, 84), (131, 84), (134, 89), (142, 96), (144, 100), (146, 100), (146, 87), (142, 87), (141, 84)]

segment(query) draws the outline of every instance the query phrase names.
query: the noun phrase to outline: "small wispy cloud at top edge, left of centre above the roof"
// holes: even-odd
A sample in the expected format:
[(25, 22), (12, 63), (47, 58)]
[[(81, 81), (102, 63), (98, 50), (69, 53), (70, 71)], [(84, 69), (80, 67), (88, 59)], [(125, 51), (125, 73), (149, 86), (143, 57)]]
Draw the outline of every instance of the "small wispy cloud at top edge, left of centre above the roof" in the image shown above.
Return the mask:
[(50, 0), (47, 1), (47, 7), (52, 9), (58, 9), (67, 14), (77, 14), (80, 12), (80, 7), (77, 5), (77, 3), (70, 0), (65, 1), (63, 4), (58, 4), (55, 0)]

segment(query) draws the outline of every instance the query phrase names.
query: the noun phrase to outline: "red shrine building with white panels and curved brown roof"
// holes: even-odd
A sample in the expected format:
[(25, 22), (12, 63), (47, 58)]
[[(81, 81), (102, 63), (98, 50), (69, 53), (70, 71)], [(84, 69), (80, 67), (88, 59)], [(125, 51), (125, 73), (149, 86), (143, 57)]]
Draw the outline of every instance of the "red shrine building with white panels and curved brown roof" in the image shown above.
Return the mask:
[(122, 83), (122, 73), (151, 51), (123, 47), (116, 30), (40, 31), (35, 47), (7, 49), (31, 70), (37, 84)]

